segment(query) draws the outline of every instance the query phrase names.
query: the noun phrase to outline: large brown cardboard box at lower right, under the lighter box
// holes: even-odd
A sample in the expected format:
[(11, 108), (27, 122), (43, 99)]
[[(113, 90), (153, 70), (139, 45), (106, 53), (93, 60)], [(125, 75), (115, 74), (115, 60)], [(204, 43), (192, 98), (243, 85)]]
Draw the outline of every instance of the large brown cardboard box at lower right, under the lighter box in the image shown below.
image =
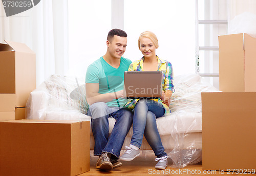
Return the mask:
[(203, 170), (256, 169), (256, 92), (202, 93)]

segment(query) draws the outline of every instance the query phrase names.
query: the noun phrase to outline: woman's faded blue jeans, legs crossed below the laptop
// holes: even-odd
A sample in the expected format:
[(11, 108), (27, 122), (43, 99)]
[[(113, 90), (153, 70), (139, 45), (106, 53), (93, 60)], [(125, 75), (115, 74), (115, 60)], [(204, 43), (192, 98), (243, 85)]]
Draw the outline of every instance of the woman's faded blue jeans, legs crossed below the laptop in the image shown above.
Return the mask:
[(143, 134), (155, 156), (167, 156), (157, 129), (156, 118), (164, 115), (163, 105), (150, 99), (140, 99), (134, 108), (131, 144), (140, 148)]

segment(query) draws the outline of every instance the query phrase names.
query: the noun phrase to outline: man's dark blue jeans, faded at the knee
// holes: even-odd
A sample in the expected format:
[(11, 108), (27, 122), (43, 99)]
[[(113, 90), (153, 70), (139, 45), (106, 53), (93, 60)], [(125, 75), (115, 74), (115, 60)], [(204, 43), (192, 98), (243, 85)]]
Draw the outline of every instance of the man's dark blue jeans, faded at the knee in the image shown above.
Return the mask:
[[(104, 102), (97, 102), (89, 107), (89, 116), (92, 116), (92, 132), (95, 140), (94, 155), (109, 152), (114, 159), (120, 156), (124, 138), (129, 132), (133, 122), (133, 112), (129, 108), (109, 107)], [(109, 136), (109, 117), (116, 122)]]

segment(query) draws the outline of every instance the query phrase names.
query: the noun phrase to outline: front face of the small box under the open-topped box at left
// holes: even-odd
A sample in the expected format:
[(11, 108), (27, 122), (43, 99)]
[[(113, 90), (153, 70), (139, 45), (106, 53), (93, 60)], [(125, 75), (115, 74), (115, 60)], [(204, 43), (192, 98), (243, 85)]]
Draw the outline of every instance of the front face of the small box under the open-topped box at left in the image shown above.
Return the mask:
[(0, 122), (15, 119), (16, 94), (0, 94)]

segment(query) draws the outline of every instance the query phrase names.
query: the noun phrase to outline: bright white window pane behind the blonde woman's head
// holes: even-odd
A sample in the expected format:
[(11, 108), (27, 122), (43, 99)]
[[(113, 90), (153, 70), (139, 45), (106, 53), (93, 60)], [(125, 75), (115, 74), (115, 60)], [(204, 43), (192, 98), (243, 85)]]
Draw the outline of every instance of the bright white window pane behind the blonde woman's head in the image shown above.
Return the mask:
[(124, 30), (128, 41), (125, 57), (138, 60), (141, 32), (158, 38), (156, 54), (173, 64), (174, 74), (195, 73), (195, 4), (191, 0), (124, 0)]

